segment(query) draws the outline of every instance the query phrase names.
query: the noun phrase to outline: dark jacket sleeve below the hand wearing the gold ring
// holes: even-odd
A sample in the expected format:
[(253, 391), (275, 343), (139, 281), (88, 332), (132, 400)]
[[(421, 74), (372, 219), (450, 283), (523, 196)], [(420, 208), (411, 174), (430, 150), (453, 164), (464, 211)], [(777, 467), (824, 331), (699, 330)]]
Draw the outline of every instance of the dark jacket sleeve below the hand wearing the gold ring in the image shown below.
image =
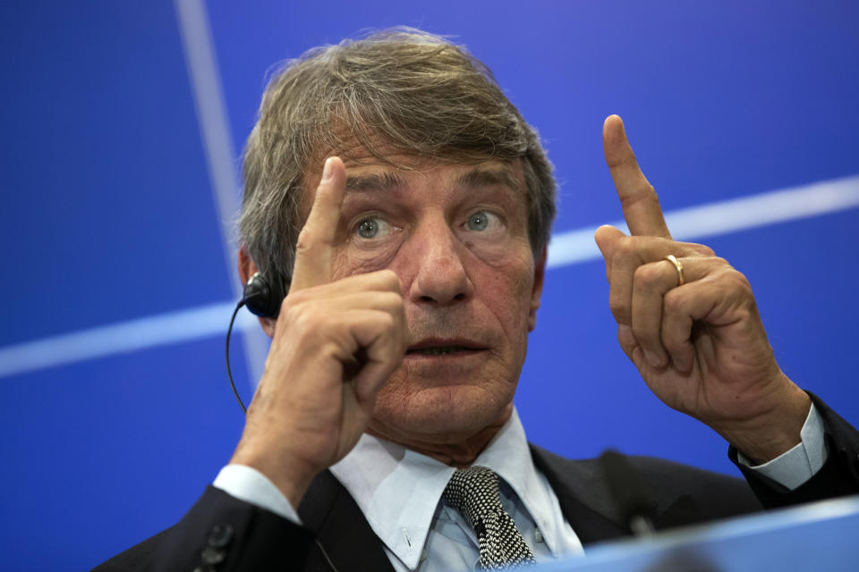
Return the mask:
[(739, 464), (736, 448), (728, 450), (728, 457), (743, 472), (761, 504), (768, 509), (859, 493), (859, 432), (819, 397), (811, 392), (809, 396), (823, 420), (828, 457), (821, 470), (804, 484), (788, 491), (781, 484)]

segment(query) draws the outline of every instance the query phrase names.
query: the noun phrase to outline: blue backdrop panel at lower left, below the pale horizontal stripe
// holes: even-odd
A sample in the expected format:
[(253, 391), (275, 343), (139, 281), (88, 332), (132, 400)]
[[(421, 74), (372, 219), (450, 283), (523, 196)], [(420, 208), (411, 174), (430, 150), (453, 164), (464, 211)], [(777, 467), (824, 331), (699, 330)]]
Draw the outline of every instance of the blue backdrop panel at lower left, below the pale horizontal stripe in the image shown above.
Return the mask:
[(5, 383), (0, 568), (89, 569), (182, 517), (241, 434), (223, 377), (211, 339)]

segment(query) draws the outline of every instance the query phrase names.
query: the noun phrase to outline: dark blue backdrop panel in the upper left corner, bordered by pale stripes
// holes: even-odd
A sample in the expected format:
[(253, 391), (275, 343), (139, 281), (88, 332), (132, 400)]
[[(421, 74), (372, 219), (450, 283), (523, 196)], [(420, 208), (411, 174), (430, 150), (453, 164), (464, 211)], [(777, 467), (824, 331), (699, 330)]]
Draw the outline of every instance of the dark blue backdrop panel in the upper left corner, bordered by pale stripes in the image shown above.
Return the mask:
[(173, 5), (12, 4), (0, 344), (229, 298)]

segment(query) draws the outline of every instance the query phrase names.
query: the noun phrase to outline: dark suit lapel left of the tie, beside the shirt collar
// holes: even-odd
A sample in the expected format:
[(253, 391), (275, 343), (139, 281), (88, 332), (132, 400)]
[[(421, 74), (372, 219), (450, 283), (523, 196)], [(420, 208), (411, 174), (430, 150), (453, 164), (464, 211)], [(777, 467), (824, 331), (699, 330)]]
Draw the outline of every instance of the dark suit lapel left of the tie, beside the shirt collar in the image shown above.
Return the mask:
[(321, 544), (321, 549), (311, 550), (305, 570), (333, 572), (327, 563), (330, 559), (338, 572), (394, 572), (361, 509), (330, 471), (310, 484), (298, 514)]

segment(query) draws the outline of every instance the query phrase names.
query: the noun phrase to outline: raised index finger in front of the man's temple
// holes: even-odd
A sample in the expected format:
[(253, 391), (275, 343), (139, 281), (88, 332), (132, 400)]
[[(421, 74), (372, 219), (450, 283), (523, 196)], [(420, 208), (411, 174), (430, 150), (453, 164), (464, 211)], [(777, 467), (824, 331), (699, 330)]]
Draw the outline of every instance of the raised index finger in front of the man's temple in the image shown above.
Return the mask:
[(295, 245), (295, 267), (290, 290), (331, 282), (334, 241), (345, 190), (343, 161), (339, 157), (328, 157), (310, 214)]

